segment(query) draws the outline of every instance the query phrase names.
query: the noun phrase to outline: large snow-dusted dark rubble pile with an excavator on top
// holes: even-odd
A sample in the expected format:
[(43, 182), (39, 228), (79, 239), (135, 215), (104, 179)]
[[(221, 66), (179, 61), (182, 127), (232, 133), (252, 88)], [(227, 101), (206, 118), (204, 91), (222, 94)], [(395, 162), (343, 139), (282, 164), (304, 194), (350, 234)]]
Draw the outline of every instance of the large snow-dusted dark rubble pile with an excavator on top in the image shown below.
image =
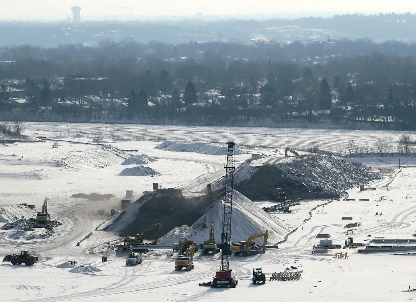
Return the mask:
[[(270, 159), (271, 156), (253, 154), (235, 169), (235, 190), (252, 200), (272, 199), (275, 188), (282, 188), (290, 199), (334, 198), (373, 178), (371, 168), (328, 154), (286, 157), (275, 164), (269, 164)], [(214, 185), (221, 186), (223, 179)]]

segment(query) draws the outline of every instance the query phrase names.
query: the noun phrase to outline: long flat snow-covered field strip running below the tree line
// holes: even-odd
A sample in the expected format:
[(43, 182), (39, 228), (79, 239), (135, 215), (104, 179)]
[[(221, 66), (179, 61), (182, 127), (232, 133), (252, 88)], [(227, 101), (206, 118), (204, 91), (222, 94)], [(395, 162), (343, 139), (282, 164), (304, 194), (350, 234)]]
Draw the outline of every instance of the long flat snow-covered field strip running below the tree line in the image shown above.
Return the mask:
[[(62, 122), (30, 122), (25, 124), (28, 132), (48, 134), (50, 137), (71, 136), (82, 133), (112, 141), (114, 137), (150, 141), (194, 140), (210, 142), (234, 141), (236, 144), (267, 146), (272, 148), (319, 149), (332, 152), (347, 152), (349, 140), (358, 147), (368, 146), (368, 151), (376, 150), (374, 141), (378, 137), (392, 143), (396, 150), (396, 141), (404, 132), (346, 129), (297, 129), (297, 128), (260, 128), (260, 127), (200, 127), (171, 125), (138, 124), (86, 124)], [(413, 132), (415, 135), (416, 132)], [(416, 136), (416, 135), (415, 135)], [(370, 139), (371, 138), (371, 139)]]

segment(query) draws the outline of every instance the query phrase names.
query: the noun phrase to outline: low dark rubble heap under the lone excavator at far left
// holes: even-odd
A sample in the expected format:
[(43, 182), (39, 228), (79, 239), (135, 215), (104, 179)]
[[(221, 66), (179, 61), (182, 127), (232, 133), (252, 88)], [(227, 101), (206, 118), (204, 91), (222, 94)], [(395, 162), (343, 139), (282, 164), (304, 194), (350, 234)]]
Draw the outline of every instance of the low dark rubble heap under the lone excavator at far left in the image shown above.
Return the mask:
[(33, 240), (45, 239), (53, 236), (55, 233), (54, 228), (59, 227), (60, 225), (60, 222), (52, 220), (49, 224), (39, 224), (36, 222), (35, 218), (29, 218), (19, 219), (15, 222), (9, 222), (2, 226), (0, 229), (15, 230), (12, 234), (7, 236), (7, 238)]

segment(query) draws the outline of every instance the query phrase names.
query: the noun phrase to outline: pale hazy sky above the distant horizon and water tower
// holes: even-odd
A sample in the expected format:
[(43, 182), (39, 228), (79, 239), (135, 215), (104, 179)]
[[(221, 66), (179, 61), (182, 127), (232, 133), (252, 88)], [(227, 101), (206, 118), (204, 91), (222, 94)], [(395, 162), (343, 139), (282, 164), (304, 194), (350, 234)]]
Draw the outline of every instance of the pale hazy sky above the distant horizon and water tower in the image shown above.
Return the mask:
[(416, 11), (416, 0), (0, 0), (0, 19), (65, 19), (74, 5), (81, 16)]

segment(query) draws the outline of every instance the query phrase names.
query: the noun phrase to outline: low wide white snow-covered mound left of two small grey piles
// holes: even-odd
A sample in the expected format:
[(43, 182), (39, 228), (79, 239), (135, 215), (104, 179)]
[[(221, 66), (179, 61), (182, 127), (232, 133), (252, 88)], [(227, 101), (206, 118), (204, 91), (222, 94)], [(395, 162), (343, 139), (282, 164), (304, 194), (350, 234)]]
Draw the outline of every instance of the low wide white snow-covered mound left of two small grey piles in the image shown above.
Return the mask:
[(86, 151), (69, 152), (70, 155), (57, 161), (58, 167), (84, 170), (85, 168), (105, 168), (126, 158), (123, 153), (116, 153), (113, 149), (98, 148)]

